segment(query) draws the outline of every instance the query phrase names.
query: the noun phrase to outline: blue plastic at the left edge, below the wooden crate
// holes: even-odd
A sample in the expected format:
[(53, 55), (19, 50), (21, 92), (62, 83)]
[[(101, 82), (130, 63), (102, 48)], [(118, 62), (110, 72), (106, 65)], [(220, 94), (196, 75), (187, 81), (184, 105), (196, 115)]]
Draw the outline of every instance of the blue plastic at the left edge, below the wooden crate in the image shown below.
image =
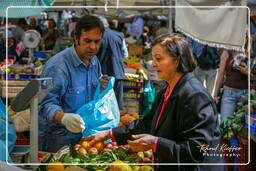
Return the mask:
[[(8, 120), (11, 120), (11, 116), (8, 113)], [(8, 123), (8, 122), (7, 122)], [(13, 124), (8, 123), (8, 153), (10, 153), (16, 142), (16, 131)], [(0, 160), (6, 161), (6, 106), (0, 99)], [(11, 162), (10, 158), (8, 159)]]

